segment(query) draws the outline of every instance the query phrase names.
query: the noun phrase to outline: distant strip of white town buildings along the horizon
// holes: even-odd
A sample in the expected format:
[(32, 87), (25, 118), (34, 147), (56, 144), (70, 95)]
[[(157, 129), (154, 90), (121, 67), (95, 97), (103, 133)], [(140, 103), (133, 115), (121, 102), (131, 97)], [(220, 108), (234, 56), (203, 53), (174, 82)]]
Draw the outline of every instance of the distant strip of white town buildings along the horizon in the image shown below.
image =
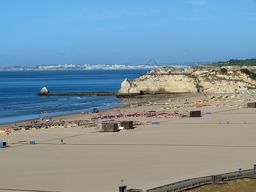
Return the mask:
[(202, 64), (211, 64), (211, 61), (198, 61), (186, 63), (146, 63), (146, 64), (56, 64), (56, 65), (33, 65), (33, 66), (4, 66), (0, 71), (20, 70), (124, 70), (124, 69), (152, 69), (157, 67), (172, 66), (184, 68)]

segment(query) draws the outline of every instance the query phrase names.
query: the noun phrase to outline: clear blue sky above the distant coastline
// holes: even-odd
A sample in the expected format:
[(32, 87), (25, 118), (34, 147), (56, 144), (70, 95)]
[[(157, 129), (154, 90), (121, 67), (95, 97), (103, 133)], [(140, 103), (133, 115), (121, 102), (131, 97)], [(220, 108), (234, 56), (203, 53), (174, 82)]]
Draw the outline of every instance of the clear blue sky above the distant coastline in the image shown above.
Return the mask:
[(0, 66), (256, 58), (256, 0), (0, 0)]

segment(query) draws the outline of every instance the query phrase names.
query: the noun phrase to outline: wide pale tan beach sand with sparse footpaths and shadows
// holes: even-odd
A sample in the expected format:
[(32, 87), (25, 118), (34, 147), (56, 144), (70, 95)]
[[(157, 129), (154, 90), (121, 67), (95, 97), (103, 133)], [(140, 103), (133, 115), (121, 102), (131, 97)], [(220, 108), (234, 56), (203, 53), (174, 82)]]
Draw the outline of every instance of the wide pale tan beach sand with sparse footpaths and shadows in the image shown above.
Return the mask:
[[(246, 95), (241, 98), (246, 99)], [(185, 99), (192, 102), (202, 96), (180, 94), (172, 104)], [(239, 108), (247, 102), (238, 100), (216, 102), (226, 104), (223, 108), (214, 108), (216, 104), (211, 103), (201, 108), (177, 109), (201, 110), (200, 118), (118, 118), (143, 122), (135, 129), (119, 132), (77, 127), (13, 131), (9, 135), (10, 147), (0, 148), (1, 189), (118, 191), (118, 186), (126, 185), (128, 189), (145, 191), (179, 180), (253, 168), (256, 109)], [(168, 100), (162, 98), (159, 102)], [(235, 107), (229, 108), (231, 104)], [(143, 104), (121, 111), (163, 110), (160, 108)], [(102, 113), (111, 111), (115, 110)], [(72, 121), (90, 116), (73, 114), (65, 118)], [(4, 127), (1, 125), (1, 129)], [(0, 133), (0, 141), (6, 141), (6, 134)], [(28, 145), (29, 141), (36, 145)]]

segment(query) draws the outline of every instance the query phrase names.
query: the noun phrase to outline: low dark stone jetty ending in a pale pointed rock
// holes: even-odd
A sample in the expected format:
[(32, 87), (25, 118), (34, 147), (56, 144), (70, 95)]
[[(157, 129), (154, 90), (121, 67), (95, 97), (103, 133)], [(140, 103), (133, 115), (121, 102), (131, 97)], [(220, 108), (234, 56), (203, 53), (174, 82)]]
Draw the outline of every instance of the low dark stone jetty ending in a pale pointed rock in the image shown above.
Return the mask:
[(116, 95), (115, 92), (68, 92), (68, 93), (50, 93), (47, 88), (42, 88), (42, 90), (37, 95), (45, 95), (45, 96), (63, 96), (63, 95), (97, 95), (97, 96), (108, 96), (108, 95)]

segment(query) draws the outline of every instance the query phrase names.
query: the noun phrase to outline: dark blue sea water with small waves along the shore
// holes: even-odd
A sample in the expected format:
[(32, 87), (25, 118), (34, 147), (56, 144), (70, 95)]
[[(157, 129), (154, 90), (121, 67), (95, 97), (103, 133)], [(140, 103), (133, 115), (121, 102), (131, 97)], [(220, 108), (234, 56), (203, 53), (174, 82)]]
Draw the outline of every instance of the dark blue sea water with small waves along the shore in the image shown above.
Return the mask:
[[(149, 70), (148, 70), (149, 71)], [(113, 96), (38, 96), (50, 92), (118, 92), (125, 78), (143, 70), (17, 71), (0, 72), (0, 124), (39, 118), (39, 113), (62, 115), (120, 105)], [(104, 106), (105, 104), (105, 106)]]

